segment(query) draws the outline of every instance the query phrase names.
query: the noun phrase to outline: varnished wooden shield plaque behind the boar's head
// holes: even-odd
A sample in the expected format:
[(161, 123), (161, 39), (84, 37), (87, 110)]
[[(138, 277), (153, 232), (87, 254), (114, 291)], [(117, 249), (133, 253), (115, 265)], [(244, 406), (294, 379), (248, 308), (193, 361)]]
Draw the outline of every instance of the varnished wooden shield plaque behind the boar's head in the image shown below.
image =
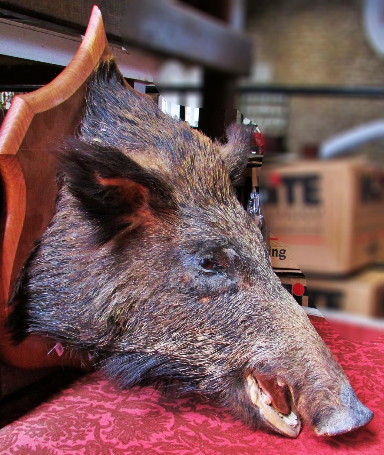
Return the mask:
[(100, 58), (109, 54), (101, 13), (94, 6), (70, 64), (46, 86), (15, 96), (0, 128), (0, 359), (8, 365), (84, 364), (67, 352), (60, 357), (55, 350), (48, 354), (56, 342), (42, 336), (30, 335), (13, 346), (5, 321), (15, 279), (55, 209), (57, 164), (47, 147), (74, 135), (83, 116), (88, 77)]

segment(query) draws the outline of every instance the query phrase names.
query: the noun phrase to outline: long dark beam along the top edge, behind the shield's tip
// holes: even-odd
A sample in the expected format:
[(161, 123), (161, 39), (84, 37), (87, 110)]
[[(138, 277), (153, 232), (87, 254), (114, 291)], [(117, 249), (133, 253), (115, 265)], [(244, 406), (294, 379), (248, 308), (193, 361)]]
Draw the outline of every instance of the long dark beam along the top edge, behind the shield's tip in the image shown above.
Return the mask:
[[(94, 4), (95, 0), (0, 0), (1, 8), (80, 33)], [(99, 0), (97, 5), (109, 40), (123, 39), (127, 45), (233, 75), (249, 72), (251, 41), (224, 20), (179, 1)]]

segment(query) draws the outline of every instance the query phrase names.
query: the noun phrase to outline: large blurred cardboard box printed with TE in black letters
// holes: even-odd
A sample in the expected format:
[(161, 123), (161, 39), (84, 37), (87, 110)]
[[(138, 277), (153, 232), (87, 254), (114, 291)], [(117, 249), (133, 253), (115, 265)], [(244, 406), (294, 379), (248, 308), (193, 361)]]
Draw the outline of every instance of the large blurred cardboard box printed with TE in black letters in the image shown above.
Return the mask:
[(362, 158), (263, 164), (270, 232), (307, 273), (346, 274), (384, 258), (384, 169)]

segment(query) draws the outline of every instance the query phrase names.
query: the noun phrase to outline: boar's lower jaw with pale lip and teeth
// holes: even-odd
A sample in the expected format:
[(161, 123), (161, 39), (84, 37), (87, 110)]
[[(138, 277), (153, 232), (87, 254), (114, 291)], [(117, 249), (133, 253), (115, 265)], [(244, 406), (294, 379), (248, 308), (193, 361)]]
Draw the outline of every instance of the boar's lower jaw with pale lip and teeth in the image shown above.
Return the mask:
[(250, 399), (259, 408), (261, 417), (278, 433), (296, 438), (301, 429), (301, 422), (294, 409), (293, 399), (291, 399), (289, 413), (284, 415), (273, 407), (269, 396), (259, 387), (252, 374), (248, 374), (246, 379)]

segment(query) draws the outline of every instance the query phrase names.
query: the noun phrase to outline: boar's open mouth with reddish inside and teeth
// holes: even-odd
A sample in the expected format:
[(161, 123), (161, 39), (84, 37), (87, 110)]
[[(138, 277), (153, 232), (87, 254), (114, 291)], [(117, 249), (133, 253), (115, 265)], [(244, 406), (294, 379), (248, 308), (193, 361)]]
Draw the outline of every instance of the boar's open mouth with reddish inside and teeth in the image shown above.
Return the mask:
[(296, 438), (301, 422), (289, 387), (278, 380), (264, 379), (254, 374), (247, 375), (248, 393), (261, 417), (275, 431)]

